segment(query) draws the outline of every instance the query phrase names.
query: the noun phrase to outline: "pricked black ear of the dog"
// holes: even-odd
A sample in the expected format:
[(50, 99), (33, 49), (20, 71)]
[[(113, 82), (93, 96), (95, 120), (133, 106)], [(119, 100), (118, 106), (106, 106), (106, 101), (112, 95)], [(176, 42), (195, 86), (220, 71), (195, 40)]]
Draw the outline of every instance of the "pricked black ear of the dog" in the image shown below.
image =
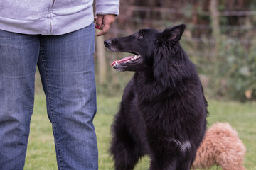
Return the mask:
[(179, 40), (181, 40), (181, 35), (183, 34), (185, 28), (186, 28), (185, 24), (181, 24), (171, 28), (166, 28), (163, 31), (163, 33), (161, 33), (161, 38), (159, 39), (172, 40), (172, 41), (178, 42)]

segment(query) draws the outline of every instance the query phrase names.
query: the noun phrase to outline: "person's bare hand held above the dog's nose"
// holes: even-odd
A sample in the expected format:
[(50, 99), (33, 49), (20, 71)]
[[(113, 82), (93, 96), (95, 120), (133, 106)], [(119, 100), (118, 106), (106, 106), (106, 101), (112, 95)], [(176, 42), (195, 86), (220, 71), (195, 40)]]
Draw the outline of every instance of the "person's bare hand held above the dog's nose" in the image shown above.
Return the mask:
[(95, 20), (95, 28), (101, 30), (100, 33), (97, 33), (97, 36), (105, 35), (108, 30), (110, 30), (110, 25), (114, 23), (116, 16), (113, 14), (107, 15), (97, 15)]

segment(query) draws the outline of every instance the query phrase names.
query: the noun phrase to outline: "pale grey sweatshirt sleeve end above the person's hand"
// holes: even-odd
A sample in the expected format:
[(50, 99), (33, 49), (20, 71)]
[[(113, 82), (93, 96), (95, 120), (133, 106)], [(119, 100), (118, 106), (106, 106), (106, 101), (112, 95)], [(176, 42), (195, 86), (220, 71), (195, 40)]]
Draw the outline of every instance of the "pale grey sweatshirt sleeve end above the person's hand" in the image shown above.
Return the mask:
[(96, 15), (97, 14), (114, 14), (118, 16), (119, 0), (97, 0)]

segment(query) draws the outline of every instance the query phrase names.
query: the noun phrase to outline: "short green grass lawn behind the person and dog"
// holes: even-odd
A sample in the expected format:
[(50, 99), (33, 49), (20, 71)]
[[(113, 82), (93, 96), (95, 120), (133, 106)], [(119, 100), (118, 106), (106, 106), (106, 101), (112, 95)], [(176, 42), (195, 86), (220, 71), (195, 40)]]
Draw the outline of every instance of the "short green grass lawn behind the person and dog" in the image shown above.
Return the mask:
[[(121, 98), (97, 96), (97, 115), (95, 128), (99, 147), (99, 169), (113, 169), (113, 162), (108, 153), (110, 146), (110, 125), (117, 112)], [(247, 148), (245, 168), (256, 169), (256, 103), (238, 103), (233, 101), (209, 100), (209, 125), (215, 122), (228, 122), (238, 131), (240, 139)], [(149, 159), (144, 158), (136, 170), (149, 167)], [(31, 120), (31, 134), (28, 140), (28, 152), (24, 169), (57, 169), (55, 147), (50, 121), (46, 113), (46, 101), (42, 94), (36, 94), (34, 113)], [(212, 169), (217, 169), (213, 167)]]

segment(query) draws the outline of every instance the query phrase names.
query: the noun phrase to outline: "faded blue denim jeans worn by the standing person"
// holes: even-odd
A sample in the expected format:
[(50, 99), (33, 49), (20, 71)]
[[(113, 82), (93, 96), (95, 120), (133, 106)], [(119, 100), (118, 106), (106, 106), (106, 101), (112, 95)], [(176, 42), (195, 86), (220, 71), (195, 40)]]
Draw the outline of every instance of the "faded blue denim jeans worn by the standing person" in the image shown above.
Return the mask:
[(95, 28), (65, 35), (0, 30), (0, 169), (23, 169), (38, 66), (58, 169), (97, 169)]

